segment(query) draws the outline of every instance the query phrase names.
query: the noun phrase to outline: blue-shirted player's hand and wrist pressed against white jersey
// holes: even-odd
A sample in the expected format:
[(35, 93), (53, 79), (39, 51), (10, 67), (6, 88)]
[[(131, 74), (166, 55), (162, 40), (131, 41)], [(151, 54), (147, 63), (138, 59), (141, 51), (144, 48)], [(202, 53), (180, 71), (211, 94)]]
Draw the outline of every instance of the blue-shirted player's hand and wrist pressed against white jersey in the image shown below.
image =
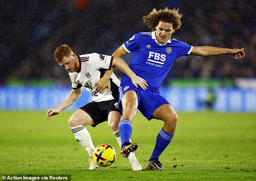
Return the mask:
[(107, 91), (111, 93), (110, 76), (114, 69), (115, 67), (111, 67), (111, 70), (106, 70), (103, 77), (100, 78), (97, 82), (95, 82), (96, 89), (99, 91), (99, 93), (102, 93), (106, 87), (107, 87)]

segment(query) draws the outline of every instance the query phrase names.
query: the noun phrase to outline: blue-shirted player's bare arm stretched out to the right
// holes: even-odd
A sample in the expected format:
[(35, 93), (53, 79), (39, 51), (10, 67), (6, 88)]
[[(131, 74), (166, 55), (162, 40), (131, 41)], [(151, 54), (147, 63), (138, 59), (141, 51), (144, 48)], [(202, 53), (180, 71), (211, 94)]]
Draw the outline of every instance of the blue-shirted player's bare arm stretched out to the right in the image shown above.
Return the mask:
[(229, 48), (219, 48), (210, 46), (200, 46), (193, 47), (190, 55), (196, 56), (216, 56), (216, 55), (231, 55), (236, 59), (244, 58), (246, 54), (244, 53), (244, 48), (241, 49), (229, 49)]

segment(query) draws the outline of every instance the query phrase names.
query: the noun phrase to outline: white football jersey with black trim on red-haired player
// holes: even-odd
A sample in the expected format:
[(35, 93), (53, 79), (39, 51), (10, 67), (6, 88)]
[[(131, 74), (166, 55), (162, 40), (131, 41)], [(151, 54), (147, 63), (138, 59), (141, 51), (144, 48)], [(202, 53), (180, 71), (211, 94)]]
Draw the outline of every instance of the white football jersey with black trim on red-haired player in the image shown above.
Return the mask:
[(103, 77), (105, 71), (111, 69), (113, 57), (90, 53), (78, 56), (78, 60), (80, 64), (78, 72), (69, 72), (73, 89), (85, 86), (95, 102), (109, 101), (114, 97), (118, 98), (120, 80), (114, 73), (110, 76), (111, 93), (108, 93), (107, 88), (99, 93), (95, 86), (95, 82)]

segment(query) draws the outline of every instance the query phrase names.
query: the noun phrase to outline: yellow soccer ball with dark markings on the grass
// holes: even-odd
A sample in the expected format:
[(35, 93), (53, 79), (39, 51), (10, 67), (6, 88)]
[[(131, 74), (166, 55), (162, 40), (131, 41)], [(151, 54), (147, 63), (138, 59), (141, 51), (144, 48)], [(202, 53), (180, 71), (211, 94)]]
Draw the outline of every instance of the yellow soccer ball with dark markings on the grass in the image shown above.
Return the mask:
[(101, 167), (108, 167), (115, 161), (115, 149), (109, 144), (97, 146), (93, 152), (94, 162)]

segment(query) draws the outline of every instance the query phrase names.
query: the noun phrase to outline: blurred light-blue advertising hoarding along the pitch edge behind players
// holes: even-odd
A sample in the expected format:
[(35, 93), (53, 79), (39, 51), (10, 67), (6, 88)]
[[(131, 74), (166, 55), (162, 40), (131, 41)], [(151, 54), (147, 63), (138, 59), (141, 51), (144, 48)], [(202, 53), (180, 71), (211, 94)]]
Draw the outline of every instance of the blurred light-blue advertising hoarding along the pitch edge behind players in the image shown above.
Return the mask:
[[(71, 91), (70, 87), (2, 86), (0, 110), (46, 111), (57, 107)], [(256, 112), (256, 90), (240, 88), (163, 87), (161, 94), (176, 111), (205, 111), (210, 92), (215, 97), (211, 109), (218, 112)], [(67, 110), (75, 111), (91, 102), (86, 89)]]

